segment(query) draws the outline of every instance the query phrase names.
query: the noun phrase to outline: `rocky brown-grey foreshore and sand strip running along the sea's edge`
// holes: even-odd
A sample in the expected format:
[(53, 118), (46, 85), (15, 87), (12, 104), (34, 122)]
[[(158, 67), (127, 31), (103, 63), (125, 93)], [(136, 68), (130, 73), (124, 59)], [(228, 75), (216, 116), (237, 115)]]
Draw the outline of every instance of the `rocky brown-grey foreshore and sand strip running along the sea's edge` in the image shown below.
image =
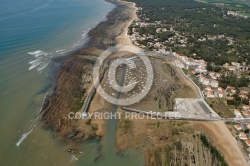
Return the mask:
[[(103, 135), (103, 131), (92, 131), (93, 125), (68, 119), (69, 112), (81, 109), (92, 83), (92, 68), (98, 55), (109, 46), (132, 45), (127, 36), (128, 27), (136, 19), (134, 3), (107, 0), (115, 5), (106, 20), (88, 32), (89, 40), (80, 49), (72, 51), (55, 61), (62, 62), (55, 74), (51, 93), (42, 106), (43, 127), (52, 130), (54, 137), (75, 144)], [(135, 49), (138, 49), (134, 46)], [(98, 134), (101, 133), (101, 134)]]

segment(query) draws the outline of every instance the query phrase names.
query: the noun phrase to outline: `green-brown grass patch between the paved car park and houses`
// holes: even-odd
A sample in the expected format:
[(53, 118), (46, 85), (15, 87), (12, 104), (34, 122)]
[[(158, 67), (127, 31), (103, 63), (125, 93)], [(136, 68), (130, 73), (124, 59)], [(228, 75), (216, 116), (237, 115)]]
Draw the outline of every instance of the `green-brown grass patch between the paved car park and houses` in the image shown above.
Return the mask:
[(221, 99), (221, 98), (206, 99), (206, 102), (221, 117), (223, 117), (223, 118), (234, 118), (235, 117), (233, 112), (230, 111), (230, 109), (232, 109), (233, 106), (228, 106), (226, 104), (226, 99)]

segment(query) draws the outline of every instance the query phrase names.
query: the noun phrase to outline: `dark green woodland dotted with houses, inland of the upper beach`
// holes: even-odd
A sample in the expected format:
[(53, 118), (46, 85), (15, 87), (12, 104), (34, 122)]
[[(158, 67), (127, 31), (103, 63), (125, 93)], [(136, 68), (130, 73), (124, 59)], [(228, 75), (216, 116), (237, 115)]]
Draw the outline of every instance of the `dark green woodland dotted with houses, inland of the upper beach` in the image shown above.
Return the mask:
[[(143, 28), (133, 25), (140, 34), (156, 35), (159, 42), (165, 42), (173, 51), (215, 65), (249, 63), (250, 19), (227, 15), (227, 9), (194, 0), (129, 1), (143, 8), (143, 22), (161, 21)], [(156, 28), (166, 28), (167, 32), (156, 34)], [(174, 43), (168, 41), (173, 32), (178, 33)], [(183, 38), (187, 40), (185, 46), (179, 43)], [(147, 45), (148, 40), (142, 42)]]

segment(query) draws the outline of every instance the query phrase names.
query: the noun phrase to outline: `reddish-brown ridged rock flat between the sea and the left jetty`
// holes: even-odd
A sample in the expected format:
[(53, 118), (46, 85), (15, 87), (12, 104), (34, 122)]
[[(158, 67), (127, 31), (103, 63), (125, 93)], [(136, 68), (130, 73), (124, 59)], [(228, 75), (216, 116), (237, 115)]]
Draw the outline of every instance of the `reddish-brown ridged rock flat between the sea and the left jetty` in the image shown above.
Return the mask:
[(92, 135), (89, 128), (80, 131), (79, 120), (71, 120), (70, 112), (81, 110), (86, 90), (92, 81), (93, 62), (79, 57), (71, 57), (62, 66), (55, 81), (53, 94), (44, 105), (42, 120), (56, 136), (83, 138)]

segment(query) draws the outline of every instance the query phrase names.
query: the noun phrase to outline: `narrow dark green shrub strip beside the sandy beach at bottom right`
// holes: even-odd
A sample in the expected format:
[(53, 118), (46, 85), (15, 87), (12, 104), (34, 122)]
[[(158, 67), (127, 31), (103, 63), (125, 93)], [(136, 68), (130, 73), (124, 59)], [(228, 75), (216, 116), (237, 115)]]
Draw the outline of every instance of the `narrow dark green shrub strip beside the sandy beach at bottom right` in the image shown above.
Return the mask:
[(201, 142), (203, 145), (210, 149), (211, 154), (213, 154), (213, 157), (215, 157), (219, 162), (221, 166), (228, 166), (226, 163), (224, 157), (221, 155), (221, 153), (217, 150), (216, 147), (214, 147), (207, 139), (207, 137), (204, 134), (200, 135)]

